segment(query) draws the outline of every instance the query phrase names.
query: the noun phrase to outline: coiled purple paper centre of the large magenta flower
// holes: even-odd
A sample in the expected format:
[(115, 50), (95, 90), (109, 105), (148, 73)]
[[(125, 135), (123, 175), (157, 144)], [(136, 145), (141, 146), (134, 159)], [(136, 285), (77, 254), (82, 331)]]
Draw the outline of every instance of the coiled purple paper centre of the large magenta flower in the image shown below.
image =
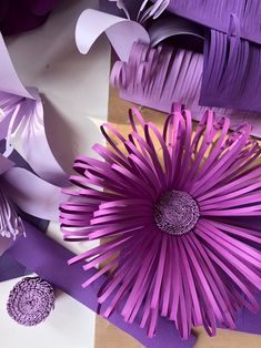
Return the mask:
[(171, 235), (182, 236), (189, 233), (199, 216), (198, 204), (183, 191), (172, 190), (163, 194), (154, 205), (157, 226)]

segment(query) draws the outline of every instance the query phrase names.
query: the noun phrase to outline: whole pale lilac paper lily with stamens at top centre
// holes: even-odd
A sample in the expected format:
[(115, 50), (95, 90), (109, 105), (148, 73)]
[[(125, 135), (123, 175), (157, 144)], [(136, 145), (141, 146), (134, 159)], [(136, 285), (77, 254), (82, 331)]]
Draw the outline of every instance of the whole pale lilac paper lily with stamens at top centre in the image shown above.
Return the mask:
[[(203, 38), (202, 30), (198, 25), (179, 18), (174, 20), (162, 19), (159, 23), (158, 21), (153, 21), (152, 25), (149, 25), (147, 29), (142, 27), (148, 19), (158, 19), (167, 8), (168, 1), (160, 0), (148, 8), (145, 7), (148, 1), (143, 1), (134, 20), (130, 20), (123, 1), (117, 1), (117, 3), (127, 14), (128, 19), (92, 9), (88, 9), (81, 13), (76, 28), (76, 42), (81, 53), (88, 53), (92, 44), (103, 32), (106, 32), (122, 61), (128, 61), (132, 44), (135, 41), (155, 45), (162, 40), (177, 34), (190, 34)], [(124, 39), (122, 40), (122, 38)]]

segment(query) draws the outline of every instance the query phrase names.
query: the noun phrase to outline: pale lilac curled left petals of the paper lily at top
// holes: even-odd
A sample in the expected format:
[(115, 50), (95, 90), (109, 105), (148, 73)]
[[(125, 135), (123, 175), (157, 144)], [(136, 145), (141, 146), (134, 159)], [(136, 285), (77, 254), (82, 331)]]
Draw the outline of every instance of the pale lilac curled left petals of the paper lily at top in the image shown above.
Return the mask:
[(139, 23), (88, 9), (81, 13), (77, 22), (76, 41), (79, 51), (83, 54), (88, 53), (103, 32), (123, 61), (128, 60), (134, 41), (150, 42), (148, 32)]

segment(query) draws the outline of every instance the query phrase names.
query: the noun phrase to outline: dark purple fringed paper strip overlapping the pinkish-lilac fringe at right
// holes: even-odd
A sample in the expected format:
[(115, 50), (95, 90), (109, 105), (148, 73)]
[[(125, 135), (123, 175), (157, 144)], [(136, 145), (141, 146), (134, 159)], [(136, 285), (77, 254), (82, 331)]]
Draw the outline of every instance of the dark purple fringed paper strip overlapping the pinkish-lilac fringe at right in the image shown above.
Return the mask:
[(200, 104), (261, 112), (261, 45), (234, 34), (205, 38)]

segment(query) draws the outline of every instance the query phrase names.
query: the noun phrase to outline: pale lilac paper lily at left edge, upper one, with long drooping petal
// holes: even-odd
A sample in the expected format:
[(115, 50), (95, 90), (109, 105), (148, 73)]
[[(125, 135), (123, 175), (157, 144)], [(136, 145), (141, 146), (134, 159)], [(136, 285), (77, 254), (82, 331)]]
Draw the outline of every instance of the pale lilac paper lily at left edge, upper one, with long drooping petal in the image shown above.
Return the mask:
[(0, 53), (0, 110), (3, 114), (0, 140), (7, 139), (4, 155), (10, 155), (14, 137), (21, 142), (24, 160), (39, 176), (54, 185), (67, 186), (68, 176), (48, 144), (38, 91), (22, 85), (1, 35)]

